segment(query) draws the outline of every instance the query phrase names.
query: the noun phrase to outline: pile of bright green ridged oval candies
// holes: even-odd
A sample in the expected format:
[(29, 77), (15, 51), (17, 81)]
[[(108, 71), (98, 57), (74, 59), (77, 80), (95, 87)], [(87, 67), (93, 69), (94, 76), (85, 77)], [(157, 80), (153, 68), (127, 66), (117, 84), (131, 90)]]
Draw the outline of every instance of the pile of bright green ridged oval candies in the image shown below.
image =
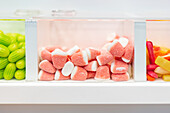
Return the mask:
[(0, 31), (0, 79), (25, 78), (25, 36)]

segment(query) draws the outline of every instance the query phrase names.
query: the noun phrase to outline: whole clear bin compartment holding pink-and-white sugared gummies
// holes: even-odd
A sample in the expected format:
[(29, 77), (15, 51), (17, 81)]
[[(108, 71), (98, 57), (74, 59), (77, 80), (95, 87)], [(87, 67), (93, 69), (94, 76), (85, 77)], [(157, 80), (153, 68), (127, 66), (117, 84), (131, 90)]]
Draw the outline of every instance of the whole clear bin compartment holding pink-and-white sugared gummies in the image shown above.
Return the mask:
[(113, 82), (133, 77), (134, 22), (38, 19), (40, 81)]

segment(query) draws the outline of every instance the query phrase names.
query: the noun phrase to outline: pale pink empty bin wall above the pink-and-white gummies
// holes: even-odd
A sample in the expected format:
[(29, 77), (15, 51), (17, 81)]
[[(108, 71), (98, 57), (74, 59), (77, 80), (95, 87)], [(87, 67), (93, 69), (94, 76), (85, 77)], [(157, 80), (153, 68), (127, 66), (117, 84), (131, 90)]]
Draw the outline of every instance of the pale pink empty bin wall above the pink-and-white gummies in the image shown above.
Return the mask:
[[(104, 45), (109, 43), (108, 37), (113, 38), (113, 33), (116, 33), (120, 37), (128, 37), (129, 42), (131, 41), (132, 45), (134, 45), (134, 22), (132, 20), (41, 19), (37, 21), (38, 54), (40, 55), (43, 48), (51, 46), (60, 47), (65, 52), (75, 45), (81, 50), (88, 47), (101, 50)], [(39, 56), (38, 61), (40, 62), (40, 60), (42, 59)], [(130, 71), (130, 76), (132, 73)], [(93, 81), (93, 79), (90, 80)], [(70, 82), (70, 80), (67, 81)], [(112, 80), (109, 81), (113, 82)]]

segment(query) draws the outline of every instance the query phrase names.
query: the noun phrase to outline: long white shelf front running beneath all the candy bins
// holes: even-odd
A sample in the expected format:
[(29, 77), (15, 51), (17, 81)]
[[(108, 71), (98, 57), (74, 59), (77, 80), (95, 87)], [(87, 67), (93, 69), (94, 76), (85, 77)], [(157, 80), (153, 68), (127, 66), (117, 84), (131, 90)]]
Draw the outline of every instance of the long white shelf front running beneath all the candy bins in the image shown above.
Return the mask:
[(0, 104), (170, 104), (168, 82), (67, 82), (1, 82)]

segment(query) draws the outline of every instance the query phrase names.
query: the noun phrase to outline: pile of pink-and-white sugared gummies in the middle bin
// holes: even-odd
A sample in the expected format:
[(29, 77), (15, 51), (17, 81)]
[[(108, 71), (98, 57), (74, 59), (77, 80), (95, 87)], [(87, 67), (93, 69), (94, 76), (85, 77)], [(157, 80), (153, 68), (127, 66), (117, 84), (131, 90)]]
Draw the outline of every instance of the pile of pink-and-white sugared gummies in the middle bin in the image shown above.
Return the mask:
[[(131, 75), (133, 44), (126, 36), (112, 33), (108, 42), (99, 50), (77, 45), (69, 50), (45, 47), (40, 51), (39, 80), (86, 79), (127, 81)], [(129, 73), (128, 73), (128, 70)]]

